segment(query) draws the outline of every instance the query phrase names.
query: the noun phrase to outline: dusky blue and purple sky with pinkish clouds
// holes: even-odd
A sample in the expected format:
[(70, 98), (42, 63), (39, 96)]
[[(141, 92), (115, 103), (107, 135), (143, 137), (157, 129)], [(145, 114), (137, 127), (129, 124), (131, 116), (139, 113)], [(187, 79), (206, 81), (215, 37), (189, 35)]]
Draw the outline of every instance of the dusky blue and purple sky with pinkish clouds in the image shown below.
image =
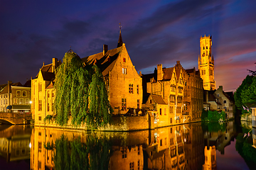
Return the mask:
[(70, 47), (81, 58), (117, 47), (119, 23), (142, 74), (157, 64), (198, 69), (201, 36), (211, 35), (216, 87), (235, 91), (256, 62), (256, 1), (0, 0), (0, 84), (36, 77)]

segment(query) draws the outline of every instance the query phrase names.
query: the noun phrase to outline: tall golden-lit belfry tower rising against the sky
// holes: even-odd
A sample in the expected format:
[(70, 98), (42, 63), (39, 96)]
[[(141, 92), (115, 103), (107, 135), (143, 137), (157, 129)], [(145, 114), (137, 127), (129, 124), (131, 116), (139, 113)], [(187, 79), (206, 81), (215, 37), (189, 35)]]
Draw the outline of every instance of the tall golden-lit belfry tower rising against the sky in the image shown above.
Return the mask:
[(198, 55), (198, 69), (203, 79), (203, 89), (215, 90), (214, 59), (211, 53), (212, 38), (209, 35), (200, 38), (201, 54)]

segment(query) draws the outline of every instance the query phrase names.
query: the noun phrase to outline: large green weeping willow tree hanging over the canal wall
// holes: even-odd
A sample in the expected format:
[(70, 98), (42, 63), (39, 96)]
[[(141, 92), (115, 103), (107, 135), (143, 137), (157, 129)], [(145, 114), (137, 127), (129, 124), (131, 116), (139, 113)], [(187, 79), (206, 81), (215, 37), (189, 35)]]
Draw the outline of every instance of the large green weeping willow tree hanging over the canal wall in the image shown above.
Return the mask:
[(70, 118), (73, 125), (87, 123), (92, 128), (110, 123), (112, 108), (97, 65), (85, 66), (75, 52), (66, 52), (54, 88), (55, 122), (59, 125), (66, 125)]

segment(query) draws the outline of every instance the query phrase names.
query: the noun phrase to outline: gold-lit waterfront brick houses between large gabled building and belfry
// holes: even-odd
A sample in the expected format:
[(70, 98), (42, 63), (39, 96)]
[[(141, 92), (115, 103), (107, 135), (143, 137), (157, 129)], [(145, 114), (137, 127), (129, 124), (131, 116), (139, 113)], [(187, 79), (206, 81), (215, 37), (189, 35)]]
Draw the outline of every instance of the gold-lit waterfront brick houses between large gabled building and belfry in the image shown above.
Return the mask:
[(185, 70), (179, 61), (171, 68), (158, 64), (143, 79), (143, 107), (156, 111), (157, 126), (201, 120), (203, 81), (195, 69)]

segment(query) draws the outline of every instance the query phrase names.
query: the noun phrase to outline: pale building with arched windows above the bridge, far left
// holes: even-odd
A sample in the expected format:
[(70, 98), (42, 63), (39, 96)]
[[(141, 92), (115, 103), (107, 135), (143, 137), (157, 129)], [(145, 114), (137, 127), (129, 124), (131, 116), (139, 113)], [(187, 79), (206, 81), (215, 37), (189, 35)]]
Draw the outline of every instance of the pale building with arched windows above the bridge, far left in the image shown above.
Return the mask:
[(31, 81), (22, 85), (20, 82), (0, 85), (0, 112), (23, 112), (31, 110)]

